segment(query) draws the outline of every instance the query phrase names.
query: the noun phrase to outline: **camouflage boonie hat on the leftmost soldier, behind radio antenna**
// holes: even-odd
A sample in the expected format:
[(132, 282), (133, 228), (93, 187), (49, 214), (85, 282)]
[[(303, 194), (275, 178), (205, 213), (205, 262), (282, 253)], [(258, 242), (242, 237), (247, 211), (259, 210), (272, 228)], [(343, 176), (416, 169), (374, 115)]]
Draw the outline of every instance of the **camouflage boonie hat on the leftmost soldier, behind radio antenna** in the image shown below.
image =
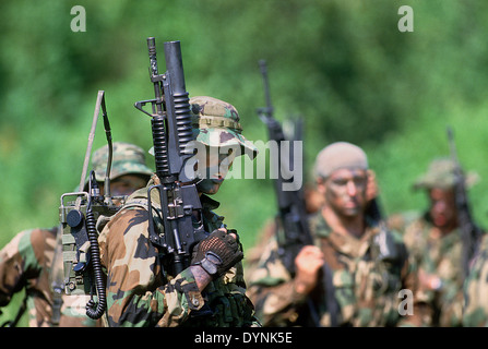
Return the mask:
[[(153, 171), (145, 165), (145, 155), (141, 147), (123, 142), (115, 142), (112, 147), (114, 155), (110, 169), (111, 180), (129, 173), (147, 176), (147, 180), (150, 179)], [(105, 145), (93, 153), (92, 168), (95, 171), (97, 181), (105, 180), (107, 159), (108, 145)]]

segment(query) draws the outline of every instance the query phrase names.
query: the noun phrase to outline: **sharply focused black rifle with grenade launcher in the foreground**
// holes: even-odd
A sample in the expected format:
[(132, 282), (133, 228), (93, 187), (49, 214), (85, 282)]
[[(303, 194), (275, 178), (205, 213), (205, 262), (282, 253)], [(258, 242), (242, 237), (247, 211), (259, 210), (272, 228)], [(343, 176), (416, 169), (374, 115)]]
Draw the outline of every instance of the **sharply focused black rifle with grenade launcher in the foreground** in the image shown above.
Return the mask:
[[(193, 131), (180, 41), (164, 43), (167, 69), (164, 74), (158, 73), (154, 37), (147, 38), (147, 48), (155, 98), (136, 101), (134, 106), (152, 118), (156, 174), (160, 181), (147, 189), (148, 232), (151, 242), (165, 256), (164, 272), (175, 276), (190, 265), (193, 245), (206, 233), (201, 221), (199, 228), (193, 227), (193, 213), (201, 213), (202, 204), (194, 178), (185, 170), (186, 163), (193, 156), (190, 146)], [(152, 106), (151, 112), (144, 109), (147, 104)], [(153, 191), (158, 194), (162, 217), (155, 217), (151, 208)], [(158, 232), (155, 218), (162, 221), (164, 232)]]

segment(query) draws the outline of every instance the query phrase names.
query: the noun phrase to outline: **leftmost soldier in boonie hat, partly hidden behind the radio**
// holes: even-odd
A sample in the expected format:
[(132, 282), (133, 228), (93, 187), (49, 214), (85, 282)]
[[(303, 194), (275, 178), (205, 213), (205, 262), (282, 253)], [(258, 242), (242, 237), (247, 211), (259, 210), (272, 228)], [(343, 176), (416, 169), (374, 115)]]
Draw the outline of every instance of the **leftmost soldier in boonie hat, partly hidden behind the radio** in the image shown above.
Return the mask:
[[(92, 157), (102, 193), (107, 157), (107, 146), (94, 152)], [(152, 170), (145, 166), (143, 149), (129, 143), (114, 143), (110, 173), (112, 194), (131, 194), (144, 186), (151, 174)], [(99, 321), (95, 322), (85, 314), (88, 296), (83, 298), (62, 292), (60, 237), (61, 229), (58, 227), (24, 230), (0, 251), (0, 306), (5, 306), (14, 293), (25, 289), (29, 327), (100, 326)]]

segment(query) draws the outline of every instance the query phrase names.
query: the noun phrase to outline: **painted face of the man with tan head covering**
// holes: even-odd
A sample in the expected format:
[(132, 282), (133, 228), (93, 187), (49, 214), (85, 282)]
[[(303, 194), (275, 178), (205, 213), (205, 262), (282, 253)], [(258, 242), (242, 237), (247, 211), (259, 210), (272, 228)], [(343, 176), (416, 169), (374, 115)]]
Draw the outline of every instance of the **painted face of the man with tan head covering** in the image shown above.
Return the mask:
[(323, 183), (325, 203), (342, 217), (355, 217), (366, 207), (368, 176), (361, 169), (338, 169)]

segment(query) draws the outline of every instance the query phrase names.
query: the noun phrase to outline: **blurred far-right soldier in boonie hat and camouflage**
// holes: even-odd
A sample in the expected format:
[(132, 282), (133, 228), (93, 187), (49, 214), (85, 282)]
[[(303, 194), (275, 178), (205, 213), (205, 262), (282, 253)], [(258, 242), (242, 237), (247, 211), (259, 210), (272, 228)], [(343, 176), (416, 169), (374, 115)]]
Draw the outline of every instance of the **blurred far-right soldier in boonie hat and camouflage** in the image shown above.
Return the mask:
[[(432, 326), (462, 326), (463, 263), (462, 234), (455, 202), (454, 163), (436, 158), (414, 189), (425, 190), (429, 208), (417, 219), (406, 219), (404, 242), (419, 267), (422, 294), (433, 310)], [(466, 186), (477, 174), (466, 176)]]

